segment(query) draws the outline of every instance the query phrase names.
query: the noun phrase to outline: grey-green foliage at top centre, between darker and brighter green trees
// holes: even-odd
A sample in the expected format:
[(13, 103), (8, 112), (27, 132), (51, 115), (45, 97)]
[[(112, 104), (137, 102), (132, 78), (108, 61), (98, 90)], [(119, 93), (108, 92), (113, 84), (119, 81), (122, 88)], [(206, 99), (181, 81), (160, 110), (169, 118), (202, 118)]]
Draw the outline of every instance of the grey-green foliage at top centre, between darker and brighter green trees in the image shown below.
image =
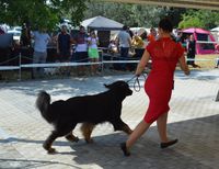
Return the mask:
[[(163, 16), (174, 18), (174, 24), (177, 24), (181, 15), (177, 14), (177, 18), (176, 15), (173, 15), (173, 9), (155, 5), (100, 2), (93, 0), (88, 3), (84, 19), (103, 15), (128, 26), (150, 27), (158, 26), (158, 22)], [(176, 12), (181, 13), (182, 11), (178, 10)]]

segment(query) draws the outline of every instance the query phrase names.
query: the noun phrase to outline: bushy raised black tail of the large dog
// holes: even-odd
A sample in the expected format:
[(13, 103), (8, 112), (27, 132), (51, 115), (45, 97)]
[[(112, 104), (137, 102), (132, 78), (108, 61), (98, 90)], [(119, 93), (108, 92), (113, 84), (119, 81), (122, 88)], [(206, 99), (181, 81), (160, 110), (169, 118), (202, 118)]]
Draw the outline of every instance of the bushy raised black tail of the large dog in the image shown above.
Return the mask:
[(50, 95), (46, 91), (41, 91), (36, 99), (36, 108), (39, 110), (42, 116), (48, 122), (53, 122), (53, 116), (48, 112), (50, 105)]

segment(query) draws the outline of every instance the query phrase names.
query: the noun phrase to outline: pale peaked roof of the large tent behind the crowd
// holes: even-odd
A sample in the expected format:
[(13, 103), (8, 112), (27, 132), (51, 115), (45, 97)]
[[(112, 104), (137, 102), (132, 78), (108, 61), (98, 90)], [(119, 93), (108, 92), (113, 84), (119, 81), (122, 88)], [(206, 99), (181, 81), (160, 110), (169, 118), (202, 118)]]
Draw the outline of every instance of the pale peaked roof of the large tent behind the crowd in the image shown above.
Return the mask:
[(93, 29), (97, 31), (122, 30), (123, 24), (104, 16), (95, 16), (84, 20), (81, 25), (85, 29)]

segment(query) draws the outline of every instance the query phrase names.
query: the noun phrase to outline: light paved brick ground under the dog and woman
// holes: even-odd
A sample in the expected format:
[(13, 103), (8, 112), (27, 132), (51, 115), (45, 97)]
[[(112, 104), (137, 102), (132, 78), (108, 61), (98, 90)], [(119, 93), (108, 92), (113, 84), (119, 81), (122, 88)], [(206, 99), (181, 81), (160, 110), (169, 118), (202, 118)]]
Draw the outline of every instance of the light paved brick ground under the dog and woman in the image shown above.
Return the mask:
[[(67, 99), (104, 91), (103, 83), (128, 80), (132, 75), (0, 83), (0, 168), (218, 169), (219, 102), (215, 101), (218, 75), (219, 70), (193, 71), (188, 78), (176, 72), (168, 127), (170, 137), (177, 137), (178, 144), (161, 150), (154, 124), (128, 158), (118, 147), (127, 135), (113, 132), (107, 123), (96, 126), (93, 144), (85, 144), (77, 126), (79, 143), (59, 138), (54, 144), (58, 153), (47, 155), (42, 144), (51, 126), (41, 117), (34, 103), (42, 89), (53, 100)], [(147, 105), (145, 91), (134, 92), (124, 101), (124, 121), (134, 128)]]

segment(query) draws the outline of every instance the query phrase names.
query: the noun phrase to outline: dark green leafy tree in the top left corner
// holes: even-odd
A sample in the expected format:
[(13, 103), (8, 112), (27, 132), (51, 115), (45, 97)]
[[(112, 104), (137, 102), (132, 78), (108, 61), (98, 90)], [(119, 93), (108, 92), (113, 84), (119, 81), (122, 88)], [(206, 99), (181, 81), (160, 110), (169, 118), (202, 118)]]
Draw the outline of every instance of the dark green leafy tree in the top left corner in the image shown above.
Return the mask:
[(30, 24), (33, 29), (55, 27), (65, 13), (70, 13), (73, 24), (79, 24), (89, 0), (0, 0), (0, 23)]

